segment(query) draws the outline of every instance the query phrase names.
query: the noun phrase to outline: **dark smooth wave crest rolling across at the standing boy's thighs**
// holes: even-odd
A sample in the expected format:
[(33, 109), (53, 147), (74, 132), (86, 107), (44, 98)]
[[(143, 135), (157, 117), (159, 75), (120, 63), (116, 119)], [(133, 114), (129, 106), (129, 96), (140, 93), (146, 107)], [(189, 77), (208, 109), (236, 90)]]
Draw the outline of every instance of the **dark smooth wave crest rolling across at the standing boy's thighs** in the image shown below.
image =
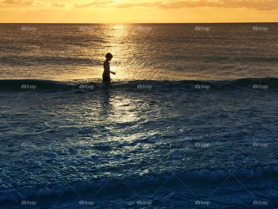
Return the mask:
[[(61, 82), (53, 80), (0, 80), (0, 91), (26, 90), (23, 85), (36, 86), (36, 90), (61, 90), (61, 89), (79, 89), (80, 85), (93, 86), (94, 88), (127, 88), (137, 89), (140, 85), (151, 86), (156, 89), (198, 89), (198, 87), (209, 86), (209, 89), (241, 89), (256, 88), (256, 85), (267, 86), (268, 89), (278, 88), (278, 78), (244, 78), (238, 80), (224, 81), (201, 81), (201, 80), (181, 80), (181, 81), (154, 81), (154, 80), (131, 80), (131, 81), (113, 81), (110, 84), (103, 83), (101, 80), (96, 82)], [(28, 89), (28, 88), (27, 88)], [(30, 89), (32, 89), (30, 87)], [(143, 88), (144, 89), (144, 88)]]

